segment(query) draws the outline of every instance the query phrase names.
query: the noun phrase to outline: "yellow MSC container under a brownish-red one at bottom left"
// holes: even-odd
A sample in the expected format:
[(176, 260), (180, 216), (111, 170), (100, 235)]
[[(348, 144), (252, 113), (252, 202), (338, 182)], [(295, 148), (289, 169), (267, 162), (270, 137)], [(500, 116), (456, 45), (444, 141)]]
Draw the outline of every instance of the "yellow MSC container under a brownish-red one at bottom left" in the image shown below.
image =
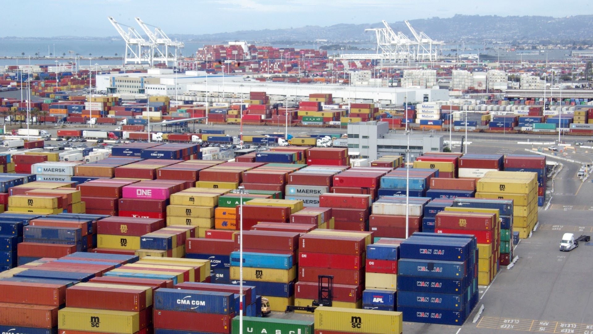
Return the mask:
[(133, 334), (140, 330), (138, 312), (65, 307), (58, 311), (58, 328), (96, 333)]

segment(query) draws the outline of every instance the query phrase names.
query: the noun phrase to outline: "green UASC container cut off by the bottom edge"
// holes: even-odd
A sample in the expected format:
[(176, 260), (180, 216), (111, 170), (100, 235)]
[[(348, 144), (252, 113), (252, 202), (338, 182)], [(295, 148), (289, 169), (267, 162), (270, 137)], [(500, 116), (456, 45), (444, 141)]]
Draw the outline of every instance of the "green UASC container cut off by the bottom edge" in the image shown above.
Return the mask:
[[(239, 318), (232, 319), (232, 334), (239, 334)], [(299, 333), (313, 334), (313, 322), (260, 317), (243, 317), (244, 333)]]

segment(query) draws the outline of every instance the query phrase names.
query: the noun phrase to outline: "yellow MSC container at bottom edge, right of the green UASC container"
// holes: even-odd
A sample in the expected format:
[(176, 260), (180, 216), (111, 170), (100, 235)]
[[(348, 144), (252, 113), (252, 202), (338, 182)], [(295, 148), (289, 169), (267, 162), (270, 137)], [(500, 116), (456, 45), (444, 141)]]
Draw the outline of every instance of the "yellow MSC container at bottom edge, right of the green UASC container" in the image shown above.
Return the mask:
[(315, 308), (315, 330), (348, 333), (400, 334), (401, 312), (320, 306)]

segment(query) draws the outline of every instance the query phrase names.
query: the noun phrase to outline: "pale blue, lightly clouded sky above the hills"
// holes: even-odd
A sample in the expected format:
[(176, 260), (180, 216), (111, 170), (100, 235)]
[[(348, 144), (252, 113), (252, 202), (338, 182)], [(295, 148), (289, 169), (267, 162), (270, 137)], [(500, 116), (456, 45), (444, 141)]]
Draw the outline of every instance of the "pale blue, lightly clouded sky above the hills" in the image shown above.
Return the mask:
[[(562, 3), (561, 6), (559, 4)], [(396, 22), (466, 15), (593, 14), (591, 0), (21, 0), (2, 2), (0, 37), (117, 36), (107, 16), (141, 31), (134, 20), (167, 34)], [(23, 14), (18, 14), (19, 12)], [(44, 15), (36, 18), (36, 15)], [(25, 18), (26, 17), (26, 18)], [(124, 27), (127, 30), (126, 27)], [(153, 29), (154, 30), (154, 29)]]

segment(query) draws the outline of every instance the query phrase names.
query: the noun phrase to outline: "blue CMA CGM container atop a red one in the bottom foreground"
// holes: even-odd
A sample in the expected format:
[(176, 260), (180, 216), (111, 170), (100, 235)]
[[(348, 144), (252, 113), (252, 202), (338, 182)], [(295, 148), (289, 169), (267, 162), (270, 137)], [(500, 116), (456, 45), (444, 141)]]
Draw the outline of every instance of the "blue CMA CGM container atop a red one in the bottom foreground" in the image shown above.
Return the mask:
[(153, 303), (158, 310), (225, 315), (235, 312), (232, 292), (161, 288), (154, 292)]

